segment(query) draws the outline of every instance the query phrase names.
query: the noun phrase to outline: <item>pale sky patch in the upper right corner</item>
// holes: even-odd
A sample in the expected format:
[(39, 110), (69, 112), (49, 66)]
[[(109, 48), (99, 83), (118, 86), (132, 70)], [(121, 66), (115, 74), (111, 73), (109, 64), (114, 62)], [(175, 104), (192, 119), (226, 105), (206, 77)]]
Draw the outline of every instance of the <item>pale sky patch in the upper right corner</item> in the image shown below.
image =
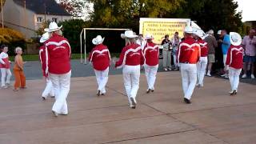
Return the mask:
[(238, 11), (242, 10), (242, 22), (256, 21), (256, 0), (234, 0), (238, 2)]

